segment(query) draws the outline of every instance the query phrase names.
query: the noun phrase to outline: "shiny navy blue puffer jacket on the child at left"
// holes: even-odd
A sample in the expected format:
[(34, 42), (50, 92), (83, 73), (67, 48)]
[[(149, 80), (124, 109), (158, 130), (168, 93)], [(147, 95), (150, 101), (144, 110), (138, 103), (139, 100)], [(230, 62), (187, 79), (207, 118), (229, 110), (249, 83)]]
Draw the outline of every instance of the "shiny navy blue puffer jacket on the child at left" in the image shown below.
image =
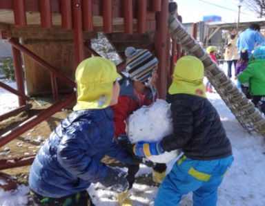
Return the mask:
[(41, 196), (60, 198), (101, 182), (109, 168), (108, 155), (126, 164), (130, 156), (115, 142), (113, 111), (90, 109), (72, 112), (50, 134), (30, 169), (30, 189)]

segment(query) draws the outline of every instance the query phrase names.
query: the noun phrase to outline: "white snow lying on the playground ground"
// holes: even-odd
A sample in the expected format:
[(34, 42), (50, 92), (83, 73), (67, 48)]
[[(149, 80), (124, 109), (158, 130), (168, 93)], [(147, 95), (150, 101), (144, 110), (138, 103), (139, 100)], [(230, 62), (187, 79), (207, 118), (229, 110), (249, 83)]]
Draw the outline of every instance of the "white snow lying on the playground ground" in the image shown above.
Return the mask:
[[(226, 68), (226, 65), (224, 65), (224, 68)], [(217, 93), (208, 93), (207, 95), (210, 102), (219, 112), (226, 133), (232, 142), (233, 155), (235, 157), (230, 171), (228, 171), (222, 185), (219, 187), (217, 205), (265, 205), (264, 138), (255, 133), (246, 133)], [(3, 111), (3, 108), (10, 109), (12, 107), (10, 104), (12, 101), (2, 90), (0, 90), (0, 100), (0, 111)], [(168, 170), (172, 165), (173, 162), (170, 162)], [(151, 172), (150, 168), (141, 165), (137, 176), (150, 174)], [(91, 185), (88, 191), (95, 205), (117, 205), (117, 194), (104, 189), (99, 183)], [(19, 189), (15, 191), (3, 191), (0, 189), (0, 205), (26, 205), (26, 194), (28, 194), (28, 187), (23, 185), (20, 185)], [(133, 189), (131, 189), (131, 194), (135, 205), (153, 205), (157, 187), (135, 183)], [(184, 196), (179, 205), (192, 205), (192, 194)]]

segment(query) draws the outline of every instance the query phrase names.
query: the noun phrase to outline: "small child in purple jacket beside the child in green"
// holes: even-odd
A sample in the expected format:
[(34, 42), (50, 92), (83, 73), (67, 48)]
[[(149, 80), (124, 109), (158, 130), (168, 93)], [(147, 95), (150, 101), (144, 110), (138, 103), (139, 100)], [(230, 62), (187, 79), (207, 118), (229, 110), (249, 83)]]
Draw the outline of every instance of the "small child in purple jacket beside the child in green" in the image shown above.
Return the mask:
[[(242, 73), (248, 66), (248, 60), (248, 51), (244, 49), (240, 52), (240, 59), (238, 59), (237, 65), (235, 66), (235, 80), (237, 80), (237, 75), (239, 75), (239, 73)], [(241, 90), (248, 99), (251, 99), (248, 82), (241, 84)]]

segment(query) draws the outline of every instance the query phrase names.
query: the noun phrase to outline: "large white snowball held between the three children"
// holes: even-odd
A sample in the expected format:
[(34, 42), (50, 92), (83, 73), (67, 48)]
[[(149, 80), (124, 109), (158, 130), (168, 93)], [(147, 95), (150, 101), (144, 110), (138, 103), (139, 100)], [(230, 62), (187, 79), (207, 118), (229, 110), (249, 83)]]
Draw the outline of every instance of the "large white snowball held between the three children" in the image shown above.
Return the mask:
[[(127, 120), (127, 133), (130, 142), (159, 141), (173, 131), (170, 104), (157, 100), (150, 106), (142, 106)], [(166, 163), (177, 158), (177, 150), (165, 152), (159, 156), (150, 156), (152, 162)]]

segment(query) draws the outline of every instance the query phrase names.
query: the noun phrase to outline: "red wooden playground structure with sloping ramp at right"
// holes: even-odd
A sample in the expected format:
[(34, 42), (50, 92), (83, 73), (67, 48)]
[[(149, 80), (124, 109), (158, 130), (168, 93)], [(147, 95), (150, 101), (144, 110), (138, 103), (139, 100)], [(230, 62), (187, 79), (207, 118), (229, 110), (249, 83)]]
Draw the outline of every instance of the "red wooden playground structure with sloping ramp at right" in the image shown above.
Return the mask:
[[(97, 32), (104, 32), (123, 59), (117, 65), (119, 72), (125, 67), (124, 50), (127, 46), (148, 48), (157, 56), (160, 98), (166, 97), (174, 55), (178, 59), (185, 54), (184, 51), (193, 53), (202, 59), (206, 76), (242, 127), (265, 135), (264, 118), (193, 39), (197, 35), (197, 25), (193, 25), (193, 37), (181, 27), (181, 17), (176, 15), (176, 9), (176, 4), (168, 0), (1, 0), (1, 37), (9, 39), (12, 45), (17, 89), (3, 82), (0, 86), (19, 97), (19, 107), (1, 115), (0, 121), (28, 111), (32, 107), (30, 100), (36, 95), (52, 94), (55, 102), (3, 133), (0, 147), (75, 102), (75, 68), (83, 59), (99, 55), (90, 45), (90, 39)], [(60, 99), (59, 94), (67, 95)], [(0, 170), (31, 165), (34, 158), (2, 159)]]

